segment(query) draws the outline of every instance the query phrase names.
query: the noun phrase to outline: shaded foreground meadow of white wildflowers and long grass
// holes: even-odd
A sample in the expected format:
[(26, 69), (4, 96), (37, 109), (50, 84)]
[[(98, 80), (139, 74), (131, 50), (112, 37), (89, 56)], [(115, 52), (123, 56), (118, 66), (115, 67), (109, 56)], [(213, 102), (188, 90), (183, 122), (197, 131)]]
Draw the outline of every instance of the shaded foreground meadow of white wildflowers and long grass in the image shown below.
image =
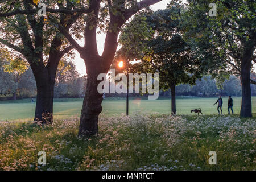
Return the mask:
[[(79, 118), (0, 123), (0, 170), (255, 170), (255, 118), (237, 115), (100, 115), (99, 133), (77, 137)], [(46, 164), (38, 164), (38, 152)], [(216, 151), (217, 164), (208, 163)]]

